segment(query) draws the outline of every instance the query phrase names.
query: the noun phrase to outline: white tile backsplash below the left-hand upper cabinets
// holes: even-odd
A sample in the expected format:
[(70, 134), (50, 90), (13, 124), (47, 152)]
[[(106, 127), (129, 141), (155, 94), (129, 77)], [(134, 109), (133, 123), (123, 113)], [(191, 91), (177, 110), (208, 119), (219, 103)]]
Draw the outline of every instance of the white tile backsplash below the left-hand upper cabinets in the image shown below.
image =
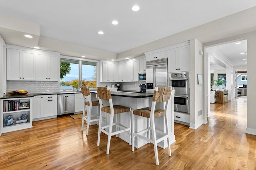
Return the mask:
[(23, 89), (28, 93), (58, 92), (58, 81), (7, 81), (7, 92)]

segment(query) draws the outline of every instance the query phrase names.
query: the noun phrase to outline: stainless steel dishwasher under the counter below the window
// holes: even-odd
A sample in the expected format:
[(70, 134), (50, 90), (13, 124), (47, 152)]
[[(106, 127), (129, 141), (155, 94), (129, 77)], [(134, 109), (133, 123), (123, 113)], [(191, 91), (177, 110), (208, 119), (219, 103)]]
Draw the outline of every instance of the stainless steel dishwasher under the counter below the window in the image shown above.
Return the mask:
[(68, 115), (75, 111), (75, 94), (58, 94), (58, 116)]

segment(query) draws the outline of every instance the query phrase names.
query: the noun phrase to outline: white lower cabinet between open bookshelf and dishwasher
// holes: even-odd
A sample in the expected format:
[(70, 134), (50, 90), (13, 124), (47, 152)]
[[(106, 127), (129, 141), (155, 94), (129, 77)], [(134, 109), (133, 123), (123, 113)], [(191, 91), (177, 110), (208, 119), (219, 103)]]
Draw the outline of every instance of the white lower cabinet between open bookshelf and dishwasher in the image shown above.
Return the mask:
[(57, 117), (57, 95), (34, 96), (33, 121)]

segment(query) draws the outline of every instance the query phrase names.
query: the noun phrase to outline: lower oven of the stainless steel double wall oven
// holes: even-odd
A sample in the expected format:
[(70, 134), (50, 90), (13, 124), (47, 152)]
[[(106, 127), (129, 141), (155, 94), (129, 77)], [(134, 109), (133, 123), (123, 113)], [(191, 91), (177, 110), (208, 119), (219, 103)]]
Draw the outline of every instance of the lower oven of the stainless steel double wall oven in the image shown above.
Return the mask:
[(174, 111), (190, 113), (189, 109), (190, 109), (190, 105), (189, 105), (188, 95), (182, 95), (182, 94), (174, 95)]

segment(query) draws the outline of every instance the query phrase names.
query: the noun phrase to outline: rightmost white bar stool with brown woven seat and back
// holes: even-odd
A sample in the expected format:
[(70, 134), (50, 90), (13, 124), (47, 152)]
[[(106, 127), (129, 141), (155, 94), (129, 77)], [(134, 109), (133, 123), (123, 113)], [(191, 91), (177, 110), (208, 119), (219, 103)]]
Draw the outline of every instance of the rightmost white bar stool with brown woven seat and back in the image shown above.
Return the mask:
[[(146, 108), (136, 109), (132, 111), (132, 152), (134, 152), (134, 137), (139, 137), (141, 139), (148, 141), (148, 143), (153, 143), (155, 157), (156, 157), (156, 165), (159, 165), (158, 150), (157, 150), (157, 144), (159, 142), (167, 139), (168, 152), (169, 152), (169, 156), (171, 156), (170, 137), (168, 136), (169, 127), (170, 127), (168, 122), (168, 116), (170, 112), (167, 111), (168, 103), (169, 103), (168, 101), (170, 100), (171, 92), (172, 90), (170, 87), (155, 87), (151, 108), (146, 107)], [(159, 103), (159, 102), (166, 102), (164, 110), (156, 109), (156, 103)], [(135, 133), (134, 132), (134, 115), (142, 116), (150, 119), (150, 126), (148, 126), (146, 129), (140, 132)], [(166, 124), (166, 133), (159, 131), (155, 127), (154, 118), (157, 118), (160, 116), (164, 116), (165, 124)], [(152, 136), (150, 135), (150, 132), (152, 133)], [(156, 136), (159, 137), (160, 135), (156, 135), (156, 132), (161, 135), (161, 137), (158, 139), (156, 139)], [(144, 136), (145, 133), (146, 133), (146, 137)]]

